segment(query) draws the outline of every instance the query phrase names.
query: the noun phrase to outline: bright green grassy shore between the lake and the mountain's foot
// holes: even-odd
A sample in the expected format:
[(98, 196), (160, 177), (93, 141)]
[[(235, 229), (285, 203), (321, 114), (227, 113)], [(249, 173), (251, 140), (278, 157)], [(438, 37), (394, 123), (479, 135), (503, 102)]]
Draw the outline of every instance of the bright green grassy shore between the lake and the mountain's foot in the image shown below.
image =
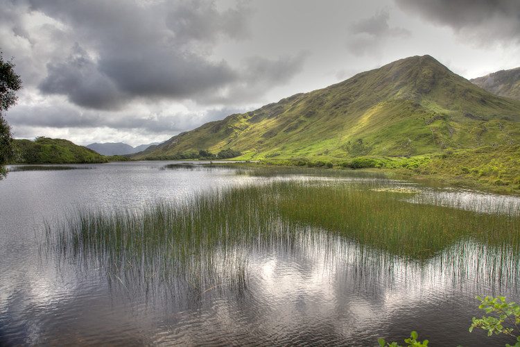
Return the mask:
[(363, 156), (348, 159), (291, 158), (259, 165), (318, 169), (370, 169), (413, 180), (485, 192), (520, 195), (520, 146), (487, 146), (415, 157)]

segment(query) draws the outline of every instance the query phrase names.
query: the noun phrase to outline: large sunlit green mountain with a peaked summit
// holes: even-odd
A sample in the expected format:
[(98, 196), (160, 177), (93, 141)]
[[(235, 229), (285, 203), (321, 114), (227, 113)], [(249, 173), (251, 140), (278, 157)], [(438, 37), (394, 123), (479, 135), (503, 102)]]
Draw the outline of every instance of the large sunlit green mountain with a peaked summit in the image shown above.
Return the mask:
[(431, 56), (397, 60), (336, 85), (230, 115), (137, 153), (232, 149), (241, 159), (419, 155), (520, 141), (520, 101), (487, 92)]

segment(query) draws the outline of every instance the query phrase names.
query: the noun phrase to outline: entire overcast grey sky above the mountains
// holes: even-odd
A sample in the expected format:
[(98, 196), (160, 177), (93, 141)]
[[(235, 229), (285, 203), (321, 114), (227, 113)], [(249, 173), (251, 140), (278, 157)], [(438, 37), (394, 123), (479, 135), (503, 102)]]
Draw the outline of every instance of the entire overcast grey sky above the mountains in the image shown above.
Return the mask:
[(0, 50), (16, 138), (137, 146), (409, 56), (520, 67), (520, 1), (0, 0)]

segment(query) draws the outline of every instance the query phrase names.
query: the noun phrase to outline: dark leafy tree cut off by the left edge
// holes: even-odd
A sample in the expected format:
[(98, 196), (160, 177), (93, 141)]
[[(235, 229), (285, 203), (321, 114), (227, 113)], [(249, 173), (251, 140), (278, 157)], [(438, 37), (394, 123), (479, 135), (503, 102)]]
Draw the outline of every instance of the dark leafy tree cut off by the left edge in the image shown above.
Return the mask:
[(15, 139), (3, 111), (16, 104), (16, 92), (21, 89), (21, 78), (15, 73), (15, 64), (11, 60), (4, 61), (0, 52), (0, 180), (6, 176), (6, 164), (18, 157)]

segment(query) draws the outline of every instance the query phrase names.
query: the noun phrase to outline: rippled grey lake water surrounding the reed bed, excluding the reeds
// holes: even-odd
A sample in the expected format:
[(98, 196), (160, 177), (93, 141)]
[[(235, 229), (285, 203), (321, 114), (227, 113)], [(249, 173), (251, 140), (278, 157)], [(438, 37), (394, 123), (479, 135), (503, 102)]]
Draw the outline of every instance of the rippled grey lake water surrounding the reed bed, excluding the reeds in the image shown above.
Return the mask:
[[(294, 230), (294, 224), (276, 222), (272, 233), (277, 237), (268, 242), (243, 245), (233, 255), (217, 250), (215, 262), (246, 257), (245, 266), (240, 276), (214, 266), (218, 280), (201, 282), (203, 287), (186, 278), (128, 282), (111, 276), (103, 264), (68, 261), (42, 249), (44, 226), (76, 210), (139, 210), (272, 180), (367, 181), (411, 187), (442, 205), (482, 213), (520, 210), (517, 197), (375, 174), (279, 171), (264, 176), (167, 164), (17, 171), (0, 182), (1, 346), (376, 346), (379, 337), (402, 343), (412, 330), (431, 346), (512, 342), (467, 330), (471, 317), (483, 314), (474, 296), (520, 298), (518, 271), (488, 266), (483, 258), (494, 255), (477, 242), (461, 242), (413, 262), (327, 230), (309, 231), (304, 225)], [(289, 232), (295, 236), (284, 237)], [(504, 259), (515, 262), (508, 269), (520, 269), (518, 257)]]

